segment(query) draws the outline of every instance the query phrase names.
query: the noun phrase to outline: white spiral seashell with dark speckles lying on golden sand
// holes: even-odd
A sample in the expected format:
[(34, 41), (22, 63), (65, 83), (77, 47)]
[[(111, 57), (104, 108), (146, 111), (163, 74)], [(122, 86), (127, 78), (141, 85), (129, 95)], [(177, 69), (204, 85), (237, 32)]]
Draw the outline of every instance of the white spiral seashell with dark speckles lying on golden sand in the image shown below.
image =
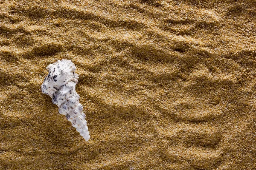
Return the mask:
[(76, 84), (79, 77), (75, 73), (76, 66), (71, 60), (61, 59), (47, 67), (49, 74), (45, 77), (41, 90), (52, 98), (52, 103), (58, 105), (60, 114), (64, 114), (72, 126), (88, 141), (90, 139), (87, 121), (80, 104)]

